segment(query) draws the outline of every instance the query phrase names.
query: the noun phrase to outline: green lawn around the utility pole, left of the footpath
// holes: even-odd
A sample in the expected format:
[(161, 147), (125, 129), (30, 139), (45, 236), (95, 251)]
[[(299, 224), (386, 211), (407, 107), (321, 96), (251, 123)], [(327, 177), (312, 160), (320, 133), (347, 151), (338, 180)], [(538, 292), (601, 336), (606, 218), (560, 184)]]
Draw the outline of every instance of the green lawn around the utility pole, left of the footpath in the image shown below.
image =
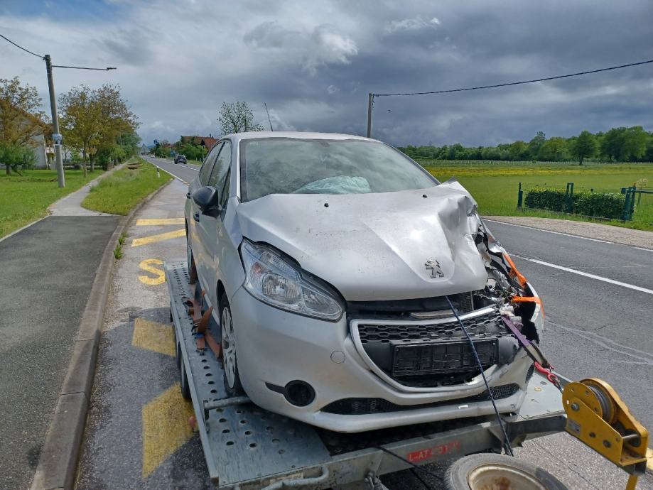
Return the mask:
[(70, 194), (89, 180), (102, 174), (102, 170), (88, 173), (66, 170), (66, 186), (58, 187), (56, 170), (24, 170), (23, 176), (0, 173), (0, 237), (48, 214), (48, 206)]

